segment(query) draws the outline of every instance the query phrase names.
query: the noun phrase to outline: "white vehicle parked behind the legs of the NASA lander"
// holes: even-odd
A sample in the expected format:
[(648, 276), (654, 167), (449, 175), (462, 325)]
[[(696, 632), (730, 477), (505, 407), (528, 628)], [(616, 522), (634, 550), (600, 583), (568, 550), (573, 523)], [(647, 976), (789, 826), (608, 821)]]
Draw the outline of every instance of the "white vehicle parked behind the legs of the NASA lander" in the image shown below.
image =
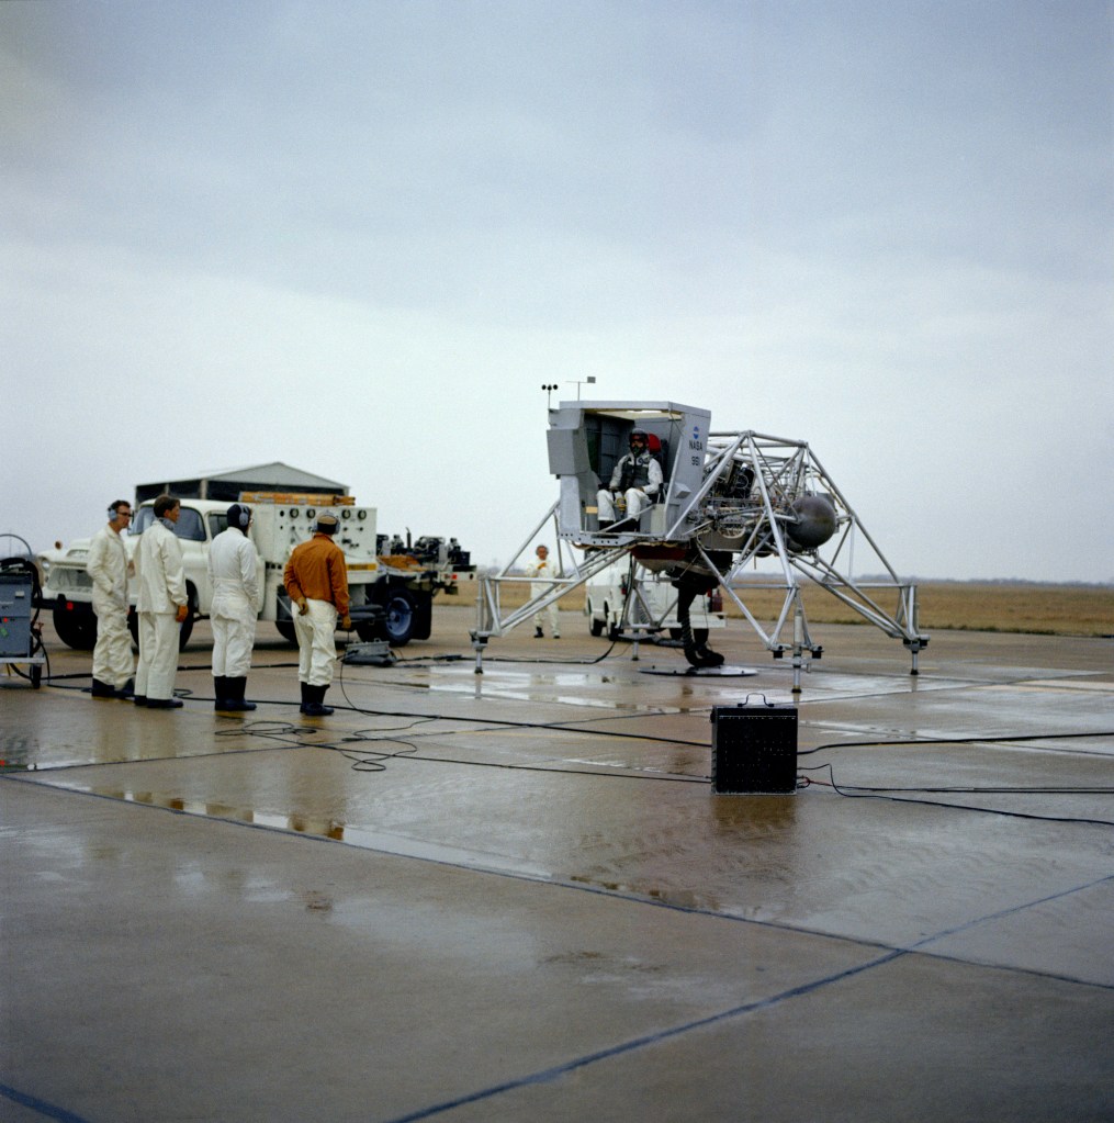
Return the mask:
[[(628, 597), (632, 573), (633, 588)], [(612, 640), (623, 636), (651, 640), (663, 636), (681, 639), (677, 590), (668, 576), (647, 569), (632, 558), (624, 557), (588, 578), (584, 614), (588, 618), (593, 636), (606, 632)], [(697, 596), (690, 609), (688, 620), (697, 643), (707, 642), (709, 629), (727, 627), (723, 597), (719, 590)]]

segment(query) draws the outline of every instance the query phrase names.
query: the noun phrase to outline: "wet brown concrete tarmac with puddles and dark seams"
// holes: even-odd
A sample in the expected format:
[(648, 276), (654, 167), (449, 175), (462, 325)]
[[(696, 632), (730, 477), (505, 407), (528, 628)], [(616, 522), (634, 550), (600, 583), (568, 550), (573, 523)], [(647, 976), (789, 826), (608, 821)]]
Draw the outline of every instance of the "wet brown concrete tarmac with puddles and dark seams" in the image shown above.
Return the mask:
[(204, 626), (176, 712), (0, 681), (0, 1119), (1114, 1119), (1114, 641), (818, 627), (807, 786), (716, 795), (740, 626), (471, 620), (325, 720), (268, 626), (244, 718)]

